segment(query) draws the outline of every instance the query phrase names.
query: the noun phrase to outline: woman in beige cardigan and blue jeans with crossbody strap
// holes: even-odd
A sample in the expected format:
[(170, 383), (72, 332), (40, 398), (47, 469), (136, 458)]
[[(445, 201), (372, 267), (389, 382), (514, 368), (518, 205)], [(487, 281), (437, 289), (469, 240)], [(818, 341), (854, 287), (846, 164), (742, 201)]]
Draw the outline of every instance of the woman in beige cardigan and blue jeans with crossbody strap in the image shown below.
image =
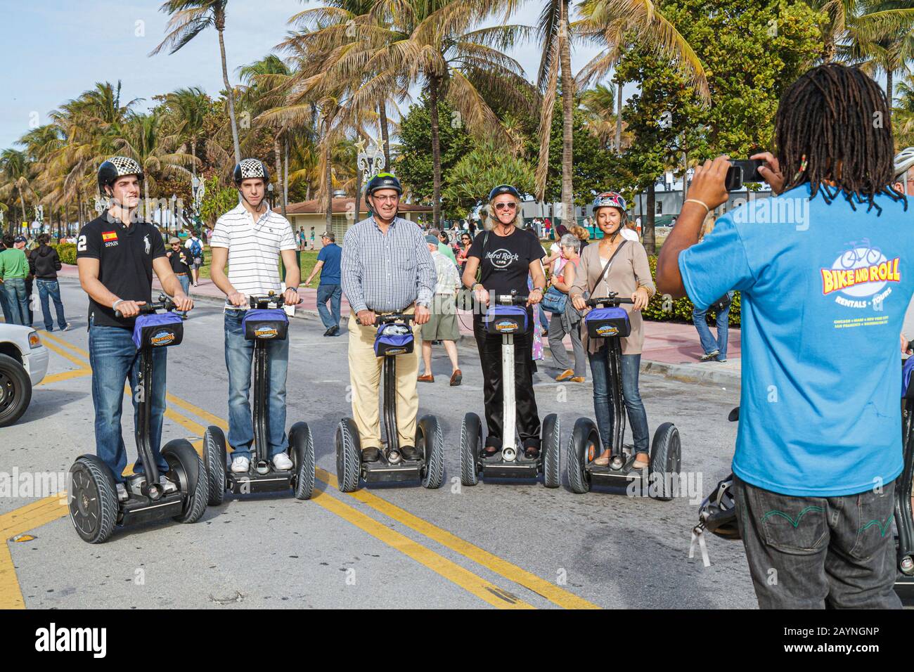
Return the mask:
[[(647, 252), (643, 245), (634, 240), (622, 238), (622, 227), (628, 219), (625, 213), (625, 199), (614, 192), (600, 194), (593, 202), (593, 215), (603, 238), (593, 242), (581, 252), (579, 272), (571, 286), (569, 296), (575, 308), (586, 312), (586, 297), (606, 296), (615, 292), (632, 299), (632, 304), (622, 304), (629, 314), (632, 333), (622, 338), (622, 398), (628, 411), (634, 438), (635, 469), (649, 464), (649, 437), (647, 412), (638, 391), (638, 370), (641, 367), (641, 349), (644, 344), (641, 310), (656, 292), (651, 269), (647, 263)], [(616, 253), (618, 251), (618, 253)], [(615, 257), (613, 257), (615, 254)], [(606, 264), (612, 260), (609, 270), (603, 273)], [(602, 277), (600, 277), (602, 276)], [(598, 282), (599, 280), (599, 282)], [(621, 455), (611, 455), (612, 447), (612, 406), (607, 356), (609, 347), (606, 339), (588, 339), (586, 328), (581, 328), (584, 347), (590, 358), (590, 374), (593, 377), (593, 410), (596, 413), (597, 428), (603, 452), (595, 464), (610, 464), (621, 469), (624, 465)]]

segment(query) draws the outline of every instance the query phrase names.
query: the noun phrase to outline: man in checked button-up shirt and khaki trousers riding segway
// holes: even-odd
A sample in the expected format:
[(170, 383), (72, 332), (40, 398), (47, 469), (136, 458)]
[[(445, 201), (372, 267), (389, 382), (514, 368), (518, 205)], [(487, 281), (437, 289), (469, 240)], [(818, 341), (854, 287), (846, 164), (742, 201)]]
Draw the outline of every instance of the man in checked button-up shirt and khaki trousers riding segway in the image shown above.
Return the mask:
[[(351, 306), (349, 317), (349, 375), (352, 382), (353, 419), (340, 423), (337, 432), (337, 465), (341, 459), (347, 467), (349, 451), (346, 449), (358, 442), (362, 446), (358, 470), (355, 464), (342, 471), (354, 475), (341, 488), (355, 489), (359, 472), (368, 475), (371, 465), (420, 464), (419, 471), (427, 467), (421, 463), (426, 455), (418, 449), (416, 415), (419, 411), (419, 395), (416, 390), (419, 371), (419, 350), (412, 348), (412, 339), (418, 327), (430, 318), (430, 303), (434, 293), (436, 275), (431, 261), (429, 246), (422, 233), (412, 222), (397, 216), (399, 197), (403, 193), (397, 177), (379, 173), (366, 188), (368, 205), (374, 213), (368, 219), (358, 222), (345, 234), (343, 241), (342, 281), (343, 291)], [(390, 369), (389, 388), (385, 401), (388, 444), (381, 453), (380, 418), (378, 397), (381, 371), (390, 357), (378, 354), (376, 336), (381, 336), (377, 324), (397, 316), (399, 321), (412, 322), (408, 325), (392, 324), (399, 336), (409, 338), (409, 346), (397, 353), (399, 360), (395, 369)], [(405, 320), (403, 318), (406, 318)], [(396, 396), (396, 404), (390, 399), (390, 392)], [(424, 421), (425, 419), (423, 419)], [(389, 426), (393, 424), (394, 426)], [(420, 421), (420, 425), (422, 422)], [(421, 432), (420, 432), (421, 433)], [(342, 434), (342, 436), (341, 436)], [(425, 443), (439, 443), (440, 432)], [(422, 436), (425, 436), (422, 433)], [(391, 445), (391, 441), (395, 442)], [(344, 446), (341, 449), (341, 446)], [(430, 446), (426, 446), (428, 453)], [(342, 450), (342, 452), (341, 452)], [(437, 460), (435, 461), (437, 463)], [(362, 468), (365, 465), (365, 468)], [(394, 474), (395, 469), (389, 470)], [(437, 468), (437, 466), (436, 466)], [(404, 474), (405, 476), (405, 474)], [(353, 480), (355, 482), (353, 482)], [(388, 480), (400, 480), (391, 476)], [(423, 481), (427, 480), (423, 477)], [(435, 476), (430, 484), (438, 478)], [(437, 487), (438, 485), (434, 485)]]

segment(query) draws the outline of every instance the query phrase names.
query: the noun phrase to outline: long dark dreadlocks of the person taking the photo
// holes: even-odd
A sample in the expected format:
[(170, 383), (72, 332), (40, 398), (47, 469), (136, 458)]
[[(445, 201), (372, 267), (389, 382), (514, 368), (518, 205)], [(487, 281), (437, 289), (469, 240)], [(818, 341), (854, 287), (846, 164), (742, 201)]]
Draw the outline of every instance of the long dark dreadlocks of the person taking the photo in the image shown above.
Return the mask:
[[(890, 187), (895, 143), (886, 96), (857, 68), (826, 63), (807, 70), (784, 91), (775, 118), (775, 141), (784, 190), (810, 183), (826, 203), (843, 194), (851, 208), (877, 194), (908, 199)], [(882, 123), (878, 123), (882, 122)], [(830, 185), (827, 182), (834, 184)]]

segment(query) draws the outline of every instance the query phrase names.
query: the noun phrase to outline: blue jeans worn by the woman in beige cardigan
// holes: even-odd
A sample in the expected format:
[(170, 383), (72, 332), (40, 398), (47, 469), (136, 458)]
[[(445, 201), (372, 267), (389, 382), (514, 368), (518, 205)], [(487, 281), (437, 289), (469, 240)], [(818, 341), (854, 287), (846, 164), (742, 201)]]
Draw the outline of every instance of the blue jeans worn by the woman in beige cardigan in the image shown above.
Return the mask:
[[(612, 450), (612, 405), (610, 372), (607, 367), (610, 348), (603, 345), (596, 353), (590, 353), (590, 375), (593, 377), (593, 411), (597, 417), (597, 429), (603, 450)], [(632, 425), (635, 453), (648, 453), (650, 443), (647, 430), (647, 411), (638, 391), (638, 372), (641, 355), (622, 355), (622, 398)]]

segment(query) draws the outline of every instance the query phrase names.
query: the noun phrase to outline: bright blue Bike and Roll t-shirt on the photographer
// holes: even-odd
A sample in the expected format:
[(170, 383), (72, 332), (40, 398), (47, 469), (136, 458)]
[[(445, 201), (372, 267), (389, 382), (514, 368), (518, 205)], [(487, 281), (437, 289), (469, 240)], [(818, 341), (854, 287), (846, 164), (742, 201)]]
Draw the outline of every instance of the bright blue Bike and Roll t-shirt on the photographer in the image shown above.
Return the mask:
[(731, 210), (679, 269), (699, 308), (742, 293), (733, 473), (782, 495), (854, 495), (901, 473), (914, 202), (880, 195), (877, 216), (809, 195), (806, 184)]

